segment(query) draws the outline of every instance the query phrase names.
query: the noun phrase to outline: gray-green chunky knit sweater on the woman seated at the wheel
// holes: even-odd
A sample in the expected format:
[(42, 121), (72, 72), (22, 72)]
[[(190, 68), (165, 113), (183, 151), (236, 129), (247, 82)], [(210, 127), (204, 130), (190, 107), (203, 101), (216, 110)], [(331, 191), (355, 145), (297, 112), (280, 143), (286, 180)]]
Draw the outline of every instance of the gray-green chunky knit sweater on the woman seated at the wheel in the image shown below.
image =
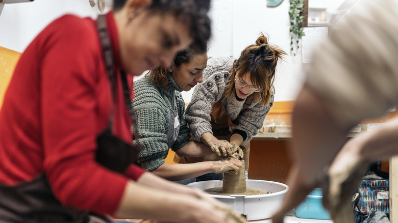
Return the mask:
[[(159, 92), (161, 89), (164, 99)], [(177, 94), (178, 115), (180, 117), (180, 132), (177, 141), (171, 146), (176, 151), (188, 143), (190, 132), (184, 119), (185, 102), (181, 95), (182, 89), (169, 76), (167, 90), (163, 86), (142, 77), (134, 81), (135, 97), (132, 100), (133, 109), (137, 115), (138, 142), (143, 146), (137, 162), (147, 171), (157, 169), (164, 163), (168, 153), (167, 127), (170, 120), (169, 108), (174, 107)], [(137, 143), (134, 140), (133, 143)]]

